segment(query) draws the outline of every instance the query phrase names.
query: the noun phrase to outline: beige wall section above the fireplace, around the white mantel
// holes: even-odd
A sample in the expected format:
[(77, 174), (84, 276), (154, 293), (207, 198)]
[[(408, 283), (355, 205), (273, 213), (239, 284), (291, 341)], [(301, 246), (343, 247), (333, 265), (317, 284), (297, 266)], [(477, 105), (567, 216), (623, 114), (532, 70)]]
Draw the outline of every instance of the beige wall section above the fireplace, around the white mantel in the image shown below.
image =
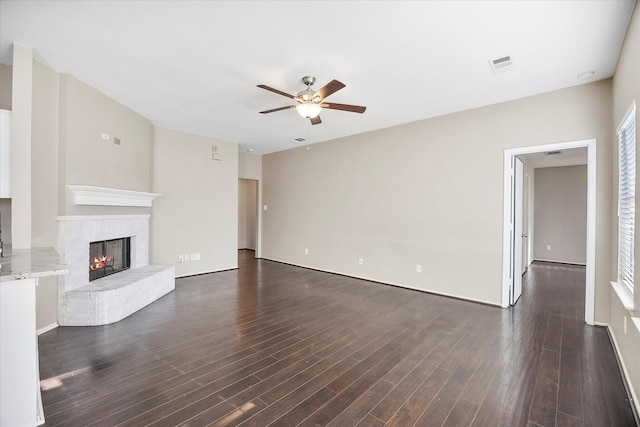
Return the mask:
[[(151, 189), (151, 123), (73, 76), (60, 77), (60, 212), (149, 213), (146, 208), (76, 206), (67, 185)], [(103, 141), (107, 133), (120, 145)]]

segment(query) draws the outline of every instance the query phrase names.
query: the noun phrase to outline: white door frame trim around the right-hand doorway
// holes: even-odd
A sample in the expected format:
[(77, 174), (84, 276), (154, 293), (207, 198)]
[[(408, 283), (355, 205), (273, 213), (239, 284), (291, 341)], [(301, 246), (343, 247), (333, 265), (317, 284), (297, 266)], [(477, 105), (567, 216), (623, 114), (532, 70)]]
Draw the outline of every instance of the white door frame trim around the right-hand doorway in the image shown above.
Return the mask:
[[(587, 149), (587, 265), (585, 283), (584, 319), (588, 325), (594, 324), (595, 317), (595, 264), (596, 264), (596, 140), (562, 142), (535, 145), (531, 147), (509, 148), (504, 150), (503, 175), (503, 229), (502, 229), (502, 307), (509, 307), (509, 277), (512, 256), (511, 248), (511, 158), (513, 156), (545, 151)], [(531, 220), (531, 218), (529, 218)]]

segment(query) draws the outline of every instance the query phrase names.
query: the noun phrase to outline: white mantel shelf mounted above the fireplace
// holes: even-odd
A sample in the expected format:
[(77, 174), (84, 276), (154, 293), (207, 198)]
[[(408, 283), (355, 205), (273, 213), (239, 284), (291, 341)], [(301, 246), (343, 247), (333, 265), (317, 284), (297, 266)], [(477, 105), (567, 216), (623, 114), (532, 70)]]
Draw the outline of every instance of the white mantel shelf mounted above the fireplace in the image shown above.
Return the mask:
[(153, 199), (160, 196), (160, 194), (157, 193), (92, 187), (90, 185), (67, 185), (67, 188), (73, 192), (76, 205), (138, 206), (150, 208)]

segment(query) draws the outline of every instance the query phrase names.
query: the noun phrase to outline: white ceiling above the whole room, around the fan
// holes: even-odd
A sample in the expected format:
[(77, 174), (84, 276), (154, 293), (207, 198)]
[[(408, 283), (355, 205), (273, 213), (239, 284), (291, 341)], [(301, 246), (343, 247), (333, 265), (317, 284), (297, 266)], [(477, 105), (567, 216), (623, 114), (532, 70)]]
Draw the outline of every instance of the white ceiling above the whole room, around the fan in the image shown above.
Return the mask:
[[(157, 126), (269, 153), (611, 77), (634, 4), (1, 0), (0, 62), (32, 47)], [(257, 84), (295, 94), (304, 75), (367, 111), (258, 114), (291, 100)]]

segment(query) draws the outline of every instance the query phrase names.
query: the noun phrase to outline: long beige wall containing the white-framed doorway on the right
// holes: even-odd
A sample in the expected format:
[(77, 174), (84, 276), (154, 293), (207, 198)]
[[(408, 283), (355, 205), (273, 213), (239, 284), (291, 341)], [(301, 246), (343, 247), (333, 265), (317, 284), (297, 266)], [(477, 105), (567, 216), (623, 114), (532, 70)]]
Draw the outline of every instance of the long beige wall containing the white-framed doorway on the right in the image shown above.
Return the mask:
[(596, 138), (602, 319), (610, 105), (605, 80), (265, 155), (262, 256), (500, 305), (504, 150)]

